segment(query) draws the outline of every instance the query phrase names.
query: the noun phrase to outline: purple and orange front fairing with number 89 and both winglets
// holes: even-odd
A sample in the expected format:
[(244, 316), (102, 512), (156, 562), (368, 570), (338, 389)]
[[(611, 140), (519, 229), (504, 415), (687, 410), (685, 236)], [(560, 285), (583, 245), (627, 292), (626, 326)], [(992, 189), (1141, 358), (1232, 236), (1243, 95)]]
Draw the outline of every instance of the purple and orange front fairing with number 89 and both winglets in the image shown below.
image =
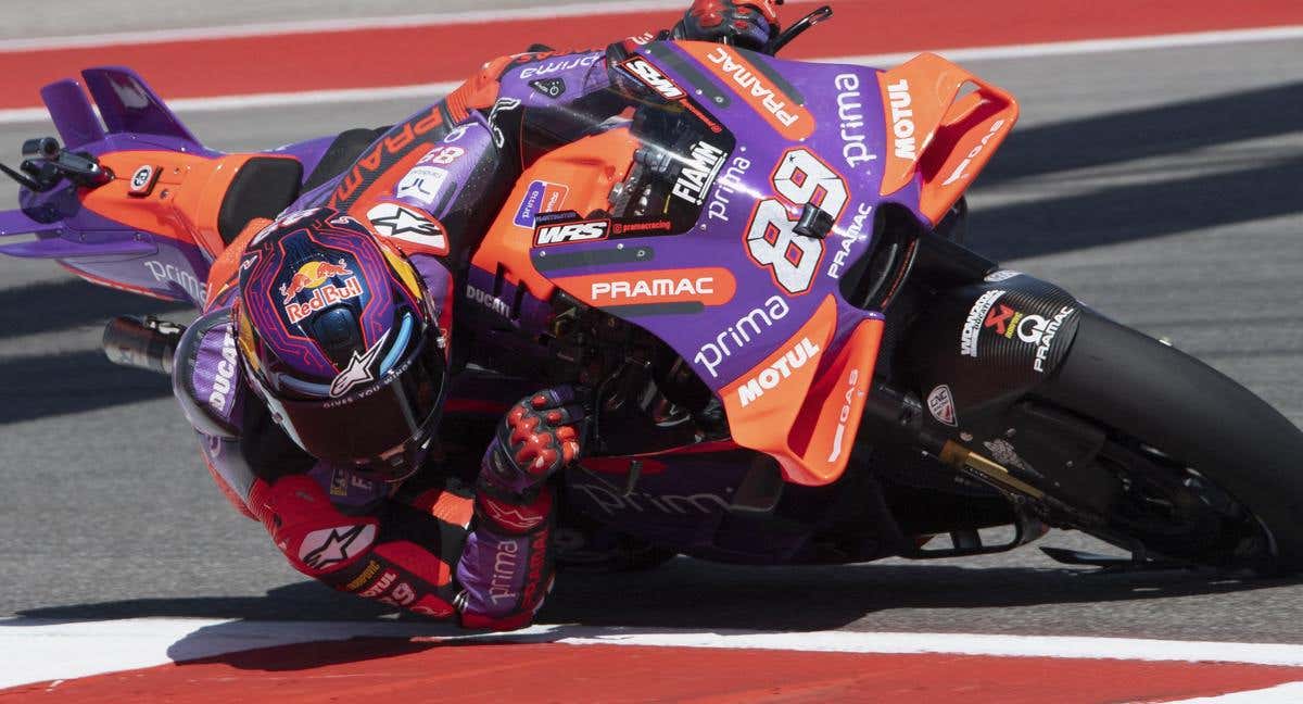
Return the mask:
[(843, 278), (887, 207), (939, 222), (1016, 108), (929, 55), (878, 72), (652, 43), (615, 70), (652, 98), (528, 169), (474, 266), (498, 301), (560, 289), (641, 326), (719, 398), (739, 445), (788, 481), (835, 481), (883, 326)]

